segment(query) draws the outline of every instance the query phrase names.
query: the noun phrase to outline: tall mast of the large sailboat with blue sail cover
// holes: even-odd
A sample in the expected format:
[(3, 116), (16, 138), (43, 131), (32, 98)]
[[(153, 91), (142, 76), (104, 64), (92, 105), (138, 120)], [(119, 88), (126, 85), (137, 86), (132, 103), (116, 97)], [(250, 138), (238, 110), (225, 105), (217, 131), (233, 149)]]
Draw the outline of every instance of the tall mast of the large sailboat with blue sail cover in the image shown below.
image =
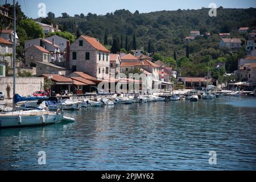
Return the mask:
[(15, 110), (14, 95), (16, 93), (16, 2), (13, 0), (13, 29), (14, 29), (14, 38), (13, 38), (13, 110)]

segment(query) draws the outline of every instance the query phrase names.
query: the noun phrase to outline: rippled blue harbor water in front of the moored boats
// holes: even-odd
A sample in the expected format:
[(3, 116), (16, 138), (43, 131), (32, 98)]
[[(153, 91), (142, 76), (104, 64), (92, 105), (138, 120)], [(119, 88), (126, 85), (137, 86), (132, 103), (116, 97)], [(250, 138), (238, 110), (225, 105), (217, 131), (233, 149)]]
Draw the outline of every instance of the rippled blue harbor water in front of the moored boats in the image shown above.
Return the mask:
[[(75, 123), (0, 129), (1, 170), (255, 170), (256, 98), (65, 111)], [(38, 152), (46, 164), (38, 163)], [(217, 164), (209, 164), (209, 152)]]

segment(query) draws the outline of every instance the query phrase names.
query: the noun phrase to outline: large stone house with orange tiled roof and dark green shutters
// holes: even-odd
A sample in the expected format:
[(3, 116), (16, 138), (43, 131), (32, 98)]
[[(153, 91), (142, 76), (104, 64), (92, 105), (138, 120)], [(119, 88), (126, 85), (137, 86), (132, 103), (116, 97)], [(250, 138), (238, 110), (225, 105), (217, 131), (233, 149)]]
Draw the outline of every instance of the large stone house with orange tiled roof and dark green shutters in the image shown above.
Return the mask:
[(84, 72), (97, 79), (108, 79), (110, 73), (110, 51), (97, 39), (80, 36), (70, 46), (69, 68), (72, 72)]

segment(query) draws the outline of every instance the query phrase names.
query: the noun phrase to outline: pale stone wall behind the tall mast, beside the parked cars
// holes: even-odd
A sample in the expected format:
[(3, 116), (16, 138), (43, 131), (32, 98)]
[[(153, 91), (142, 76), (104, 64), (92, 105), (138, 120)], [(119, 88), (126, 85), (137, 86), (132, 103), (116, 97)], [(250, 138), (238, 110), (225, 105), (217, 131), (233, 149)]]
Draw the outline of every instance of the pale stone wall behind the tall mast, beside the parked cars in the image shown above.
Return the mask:
[[(43, 77), (16, 77), (16, 93), (20, 96), (29, 96), (40, 90), (44, 90)], [(6, 98), (13, 98), (13, 77), (0, 78), (0, 91)]]

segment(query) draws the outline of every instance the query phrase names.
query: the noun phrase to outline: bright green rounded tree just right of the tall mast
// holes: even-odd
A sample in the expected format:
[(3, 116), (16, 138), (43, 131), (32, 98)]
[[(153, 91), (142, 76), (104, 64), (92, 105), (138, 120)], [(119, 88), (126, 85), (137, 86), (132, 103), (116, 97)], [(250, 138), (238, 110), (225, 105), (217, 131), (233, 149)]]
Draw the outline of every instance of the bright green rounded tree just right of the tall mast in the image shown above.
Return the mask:
[(19, 24), (26, 31), (28, 39), (44, 38), (43, 28), (32, 19), (24, 19)]

